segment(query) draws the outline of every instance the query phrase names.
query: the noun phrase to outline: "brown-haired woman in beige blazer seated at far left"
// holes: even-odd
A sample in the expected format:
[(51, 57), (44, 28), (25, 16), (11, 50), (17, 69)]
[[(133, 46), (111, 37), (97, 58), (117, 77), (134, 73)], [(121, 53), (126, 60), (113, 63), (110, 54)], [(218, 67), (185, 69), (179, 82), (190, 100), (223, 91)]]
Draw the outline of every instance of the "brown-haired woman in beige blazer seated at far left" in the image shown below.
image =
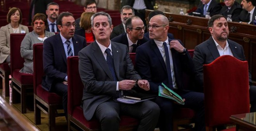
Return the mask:
[(22, 13), (19, 8), (13, 7), (7, 14), (7, 23), (0, 29), (0, 64), (10, 63), (10, 34), (28, 33), (28, 27), (21, 25)]

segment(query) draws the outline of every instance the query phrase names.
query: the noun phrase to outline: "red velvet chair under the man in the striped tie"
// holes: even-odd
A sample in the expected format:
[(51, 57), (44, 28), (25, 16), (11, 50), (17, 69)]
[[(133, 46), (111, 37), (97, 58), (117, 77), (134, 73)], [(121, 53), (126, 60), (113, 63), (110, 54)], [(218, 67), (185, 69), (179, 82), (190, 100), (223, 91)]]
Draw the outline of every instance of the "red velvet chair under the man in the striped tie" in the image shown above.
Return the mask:
[(34, 107), (35, 124), (41, 124), (41, 111), (48, 115), (48, 130), (54, 131), (55, 118), (65, 116), (64, 113), (58, 113), (57, 109), (63, 109), (62, 97), (45, 91), (42, 88), (43, 72), (43, 44), (33, 45), (33, 66), (34, 66)]

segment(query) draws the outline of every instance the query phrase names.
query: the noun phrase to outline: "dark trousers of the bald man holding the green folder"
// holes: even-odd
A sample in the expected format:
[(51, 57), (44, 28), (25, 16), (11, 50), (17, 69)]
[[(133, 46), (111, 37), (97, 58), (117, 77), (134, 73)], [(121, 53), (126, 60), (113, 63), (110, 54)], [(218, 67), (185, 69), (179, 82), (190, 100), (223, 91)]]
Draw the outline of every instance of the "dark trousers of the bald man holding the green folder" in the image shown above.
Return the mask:
[(204, 123), (204, 94), (200, 92), (177, 92), (183, 99), (185, 105), (175, 104), (171, 99), (157, 97), (156, 103), (160, 107), (158, 125), (160, 131), (173, 131), (173, 112), (175, 106), (186, 107), (195, 111), (195, 131), (205, 131)]

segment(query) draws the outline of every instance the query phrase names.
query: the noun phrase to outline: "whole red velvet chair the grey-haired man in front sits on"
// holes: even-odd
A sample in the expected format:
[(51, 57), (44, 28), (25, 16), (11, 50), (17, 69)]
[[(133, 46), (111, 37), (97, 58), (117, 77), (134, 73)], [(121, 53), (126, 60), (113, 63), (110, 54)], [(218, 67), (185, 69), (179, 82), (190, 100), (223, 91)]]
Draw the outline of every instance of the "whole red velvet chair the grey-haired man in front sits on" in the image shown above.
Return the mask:
[[(100, 123), (93, 118), (87, 121), (83, 116), (81, 100), (83, 83), (78, 72), (78, 56), (67, 58), (67, 116), (69, 130), (99, 131)], [(121, 116), (119, 130), (130, 131), (137, 128), (138, 120), (129, 116)]]

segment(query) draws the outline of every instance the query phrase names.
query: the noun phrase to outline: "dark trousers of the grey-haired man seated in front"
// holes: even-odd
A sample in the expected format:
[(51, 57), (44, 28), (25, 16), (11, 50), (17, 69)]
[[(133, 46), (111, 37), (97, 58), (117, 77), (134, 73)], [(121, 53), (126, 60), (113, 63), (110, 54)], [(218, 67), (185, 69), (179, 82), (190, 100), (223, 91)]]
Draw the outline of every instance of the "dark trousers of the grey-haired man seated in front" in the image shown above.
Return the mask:
[(152, 101), (124, 104), (110, 99), (96, 108), (95, 116), (100, 121), (102, 131), (118, 131), (119, 114), (139, 119), (138, 131), (154, 131), (159, 111), (157, 104)]

